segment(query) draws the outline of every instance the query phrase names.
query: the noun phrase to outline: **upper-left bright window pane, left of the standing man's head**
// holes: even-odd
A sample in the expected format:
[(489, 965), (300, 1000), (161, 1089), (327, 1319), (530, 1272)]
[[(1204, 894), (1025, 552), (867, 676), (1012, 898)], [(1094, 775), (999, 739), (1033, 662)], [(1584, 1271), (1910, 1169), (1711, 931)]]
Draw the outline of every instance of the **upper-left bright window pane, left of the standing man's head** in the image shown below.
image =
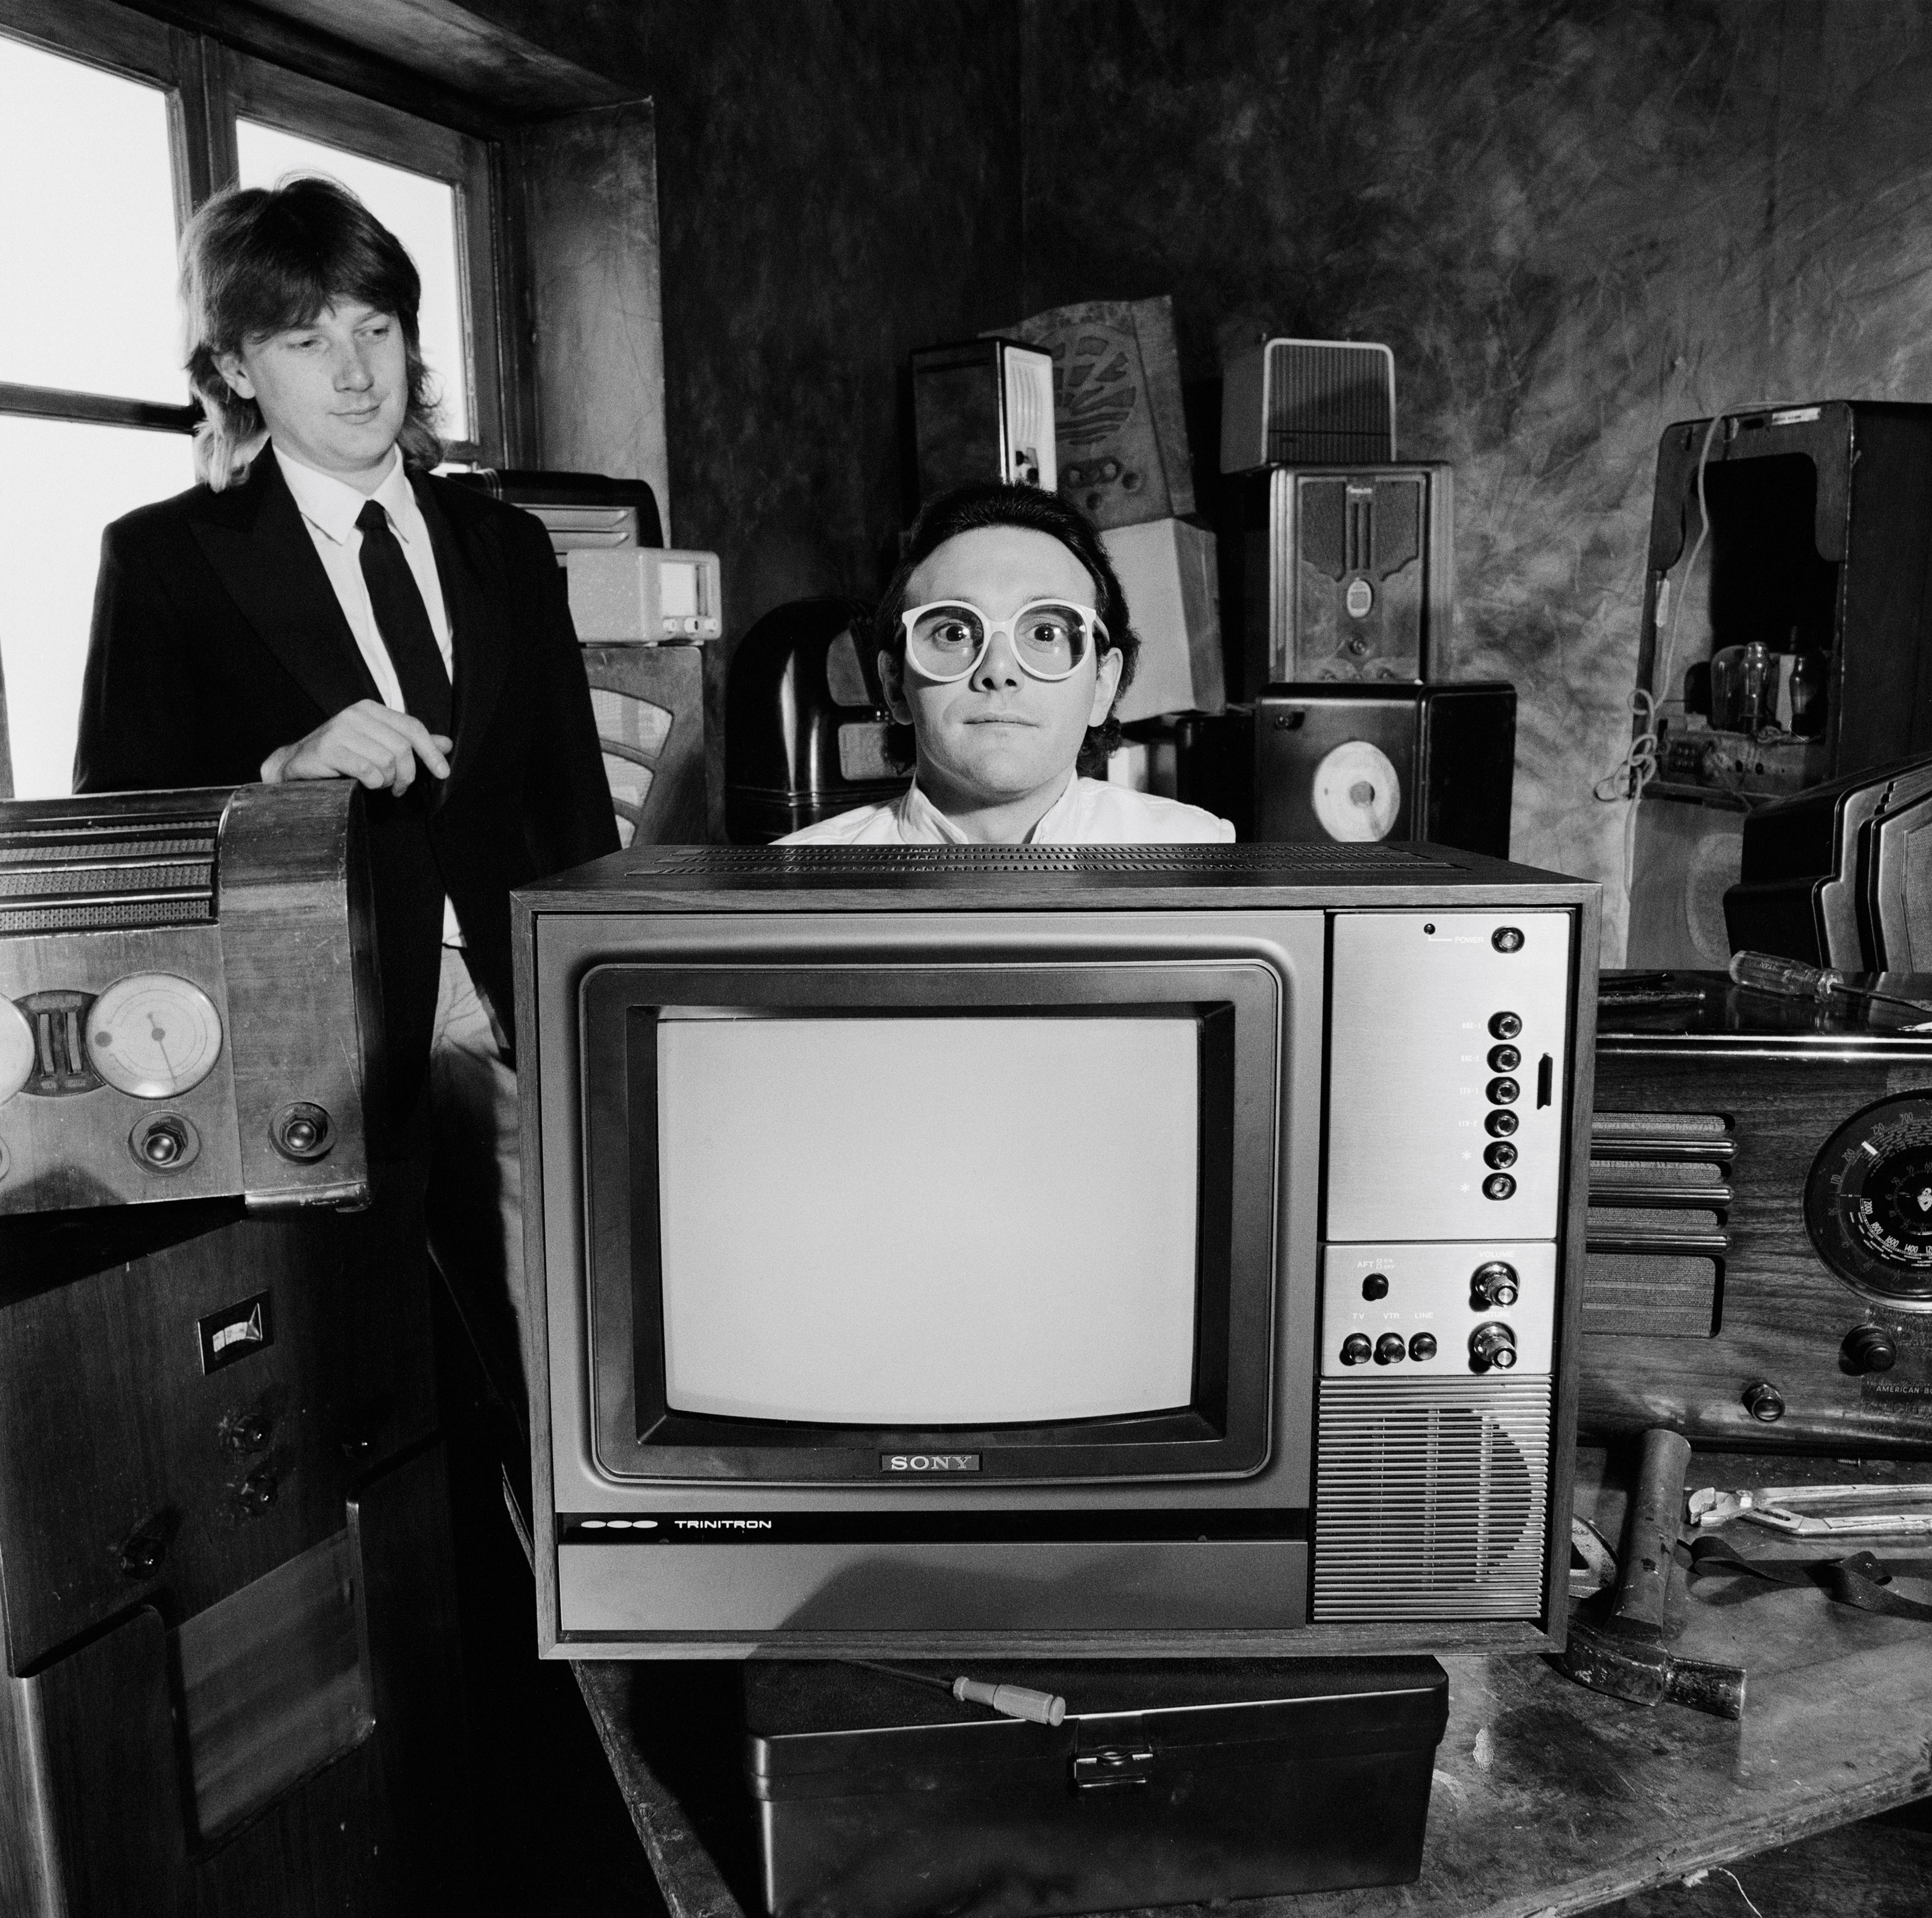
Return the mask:
[(180, 406), (168, 101), (0, 37), (0, 379)]

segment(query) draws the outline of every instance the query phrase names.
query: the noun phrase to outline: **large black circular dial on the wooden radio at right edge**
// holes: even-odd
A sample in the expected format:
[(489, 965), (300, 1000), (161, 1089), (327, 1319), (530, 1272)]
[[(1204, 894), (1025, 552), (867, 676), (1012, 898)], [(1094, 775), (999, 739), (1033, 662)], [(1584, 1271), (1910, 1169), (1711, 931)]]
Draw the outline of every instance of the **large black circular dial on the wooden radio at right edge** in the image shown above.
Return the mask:
[(1845, 1284), (1932, 1311), (1932, 1094), (1882, 1098), (1832, 1135), (1804, 1187), (1804, 1224)]

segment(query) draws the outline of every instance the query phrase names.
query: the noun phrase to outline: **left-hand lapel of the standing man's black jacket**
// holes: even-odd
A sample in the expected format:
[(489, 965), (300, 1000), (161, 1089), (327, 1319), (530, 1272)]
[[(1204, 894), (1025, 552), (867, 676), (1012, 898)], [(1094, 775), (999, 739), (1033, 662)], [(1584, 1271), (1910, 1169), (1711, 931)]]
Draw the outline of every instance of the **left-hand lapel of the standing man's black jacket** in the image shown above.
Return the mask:
[(247, 485), (216, 493), (211, 509), (193, 522), (201, 551), (263, 646), (323, 715), (379, 700), (274, 456), (263, 449)]

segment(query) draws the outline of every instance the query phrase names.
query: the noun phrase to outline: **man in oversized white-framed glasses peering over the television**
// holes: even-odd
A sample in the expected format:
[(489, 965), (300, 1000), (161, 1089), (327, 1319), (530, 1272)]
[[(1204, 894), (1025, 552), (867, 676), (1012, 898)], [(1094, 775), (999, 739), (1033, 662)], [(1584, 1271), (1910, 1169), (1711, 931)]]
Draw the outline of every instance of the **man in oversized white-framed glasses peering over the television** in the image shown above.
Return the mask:
[(1200, 806), (1103, 771), (1138, 640), (1107, 549), (1066, 501), (972, 485), (935, 499), (877, 615), (879, 677), (916, 773), (781, 845), (1150, 845), (1225, 841)]

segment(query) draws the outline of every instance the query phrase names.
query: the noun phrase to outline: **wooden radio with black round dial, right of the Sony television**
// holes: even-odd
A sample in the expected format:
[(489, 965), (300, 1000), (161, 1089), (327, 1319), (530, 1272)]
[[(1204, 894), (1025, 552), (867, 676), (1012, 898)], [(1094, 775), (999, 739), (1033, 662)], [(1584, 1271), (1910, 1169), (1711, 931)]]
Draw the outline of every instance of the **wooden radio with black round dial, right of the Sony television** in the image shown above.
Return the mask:
[(1932, 1450), (1932, 1038), (1604, 974), (1580, 1427)]

